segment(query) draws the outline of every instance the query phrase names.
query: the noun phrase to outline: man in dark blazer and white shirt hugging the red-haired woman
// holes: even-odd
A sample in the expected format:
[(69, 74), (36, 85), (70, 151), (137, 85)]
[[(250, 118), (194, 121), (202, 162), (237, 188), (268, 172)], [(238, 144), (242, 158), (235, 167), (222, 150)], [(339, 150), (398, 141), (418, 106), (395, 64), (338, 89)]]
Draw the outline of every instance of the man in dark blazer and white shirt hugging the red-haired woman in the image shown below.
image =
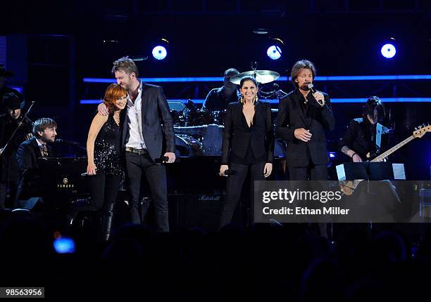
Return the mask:
[[(122, 143), (131, 195), (131, 221), (142, 223), (141, 216), (144, 217), (148, 209), (145, 204), (139, 216), (141, 178), (146, 176), (156, 210), (156, 227), (158, 231), (168, 232), (168, 186), (166, 169), (161, 165), (161, 162), (175, 161), (175, 134), (168, 102), (160, 86), (145, 84), (138, 78), (138, 69), (132, 59), (116, 60), (112, 72), (117, 83), (129, 93), (127, 110), (123, 110), (120, 123), (123, 125)], [(99, 112), (108, 113), (103, 104), (99, 105)]]

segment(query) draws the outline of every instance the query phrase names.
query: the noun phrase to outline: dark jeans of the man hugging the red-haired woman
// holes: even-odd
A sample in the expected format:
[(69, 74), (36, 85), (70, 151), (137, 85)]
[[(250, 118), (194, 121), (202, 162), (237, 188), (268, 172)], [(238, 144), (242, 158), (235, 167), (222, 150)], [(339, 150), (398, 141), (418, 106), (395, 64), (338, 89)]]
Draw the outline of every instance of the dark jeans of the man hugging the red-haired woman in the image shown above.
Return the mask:
[[(139, 200), (142, 199), (142, 175), (146, 176), (156, 211), (156, 228), (160, 232), (169, 232), (168, 220), (168, 185), (165, 166), (155, 164), (148, 153), (138, 155), (125, 152), (126, 176), (130, 190), (130, 218), (132, 223), (142, 223), (139, 216)], [(143, 206), (145, 217), (148, 206)]]

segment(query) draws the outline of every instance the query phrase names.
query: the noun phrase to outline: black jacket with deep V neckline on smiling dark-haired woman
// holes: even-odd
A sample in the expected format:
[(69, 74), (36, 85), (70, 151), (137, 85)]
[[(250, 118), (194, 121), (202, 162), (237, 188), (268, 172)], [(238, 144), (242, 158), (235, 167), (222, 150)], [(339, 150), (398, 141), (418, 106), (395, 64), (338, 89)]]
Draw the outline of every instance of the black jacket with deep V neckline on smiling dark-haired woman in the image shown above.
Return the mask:
[(249, 145), (254, 157), (266, 155), (266, 162), (273, 162), (274, 127), (269, 103), (256, 103), (251, 128), (246, 124), (242, 103), (235, 102), (227, 106), (221, 164), (229, 164), (230, 152), (244, 159)]

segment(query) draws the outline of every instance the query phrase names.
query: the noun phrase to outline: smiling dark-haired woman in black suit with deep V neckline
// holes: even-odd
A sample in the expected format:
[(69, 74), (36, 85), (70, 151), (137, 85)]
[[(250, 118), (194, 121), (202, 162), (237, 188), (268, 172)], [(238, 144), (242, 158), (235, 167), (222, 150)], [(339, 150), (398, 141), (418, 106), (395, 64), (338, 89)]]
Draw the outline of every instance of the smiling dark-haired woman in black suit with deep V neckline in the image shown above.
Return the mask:
[[(232, 220), (248, 171), (252, 189), (254, 180), (264, 180), (273, 170), (274, 129), (270, 104), (258, 100), (254, 77), (243, 77), (239, 91), (241, 100), (230, 103), (225, 115), (220, 176), (229, 176), (220, 228)], [(225, 173), (227, 170), (230, 173)]]

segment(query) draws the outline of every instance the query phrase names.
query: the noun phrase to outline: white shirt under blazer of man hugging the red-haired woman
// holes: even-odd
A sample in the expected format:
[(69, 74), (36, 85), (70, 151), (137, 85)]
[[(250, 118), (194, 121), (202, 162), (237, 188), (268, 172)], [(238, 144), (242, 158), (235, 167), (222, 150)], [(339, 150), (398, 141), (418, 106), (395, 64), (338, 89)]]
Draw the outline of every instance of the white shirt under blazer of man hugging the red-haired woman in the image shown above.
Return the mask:
[(146, 149), (142, 136), (142, 81), (139, 81), (138, 95), (135, 103), (127, 96), (127, 124), (129, 125), (129, 140), (125, 147)]

